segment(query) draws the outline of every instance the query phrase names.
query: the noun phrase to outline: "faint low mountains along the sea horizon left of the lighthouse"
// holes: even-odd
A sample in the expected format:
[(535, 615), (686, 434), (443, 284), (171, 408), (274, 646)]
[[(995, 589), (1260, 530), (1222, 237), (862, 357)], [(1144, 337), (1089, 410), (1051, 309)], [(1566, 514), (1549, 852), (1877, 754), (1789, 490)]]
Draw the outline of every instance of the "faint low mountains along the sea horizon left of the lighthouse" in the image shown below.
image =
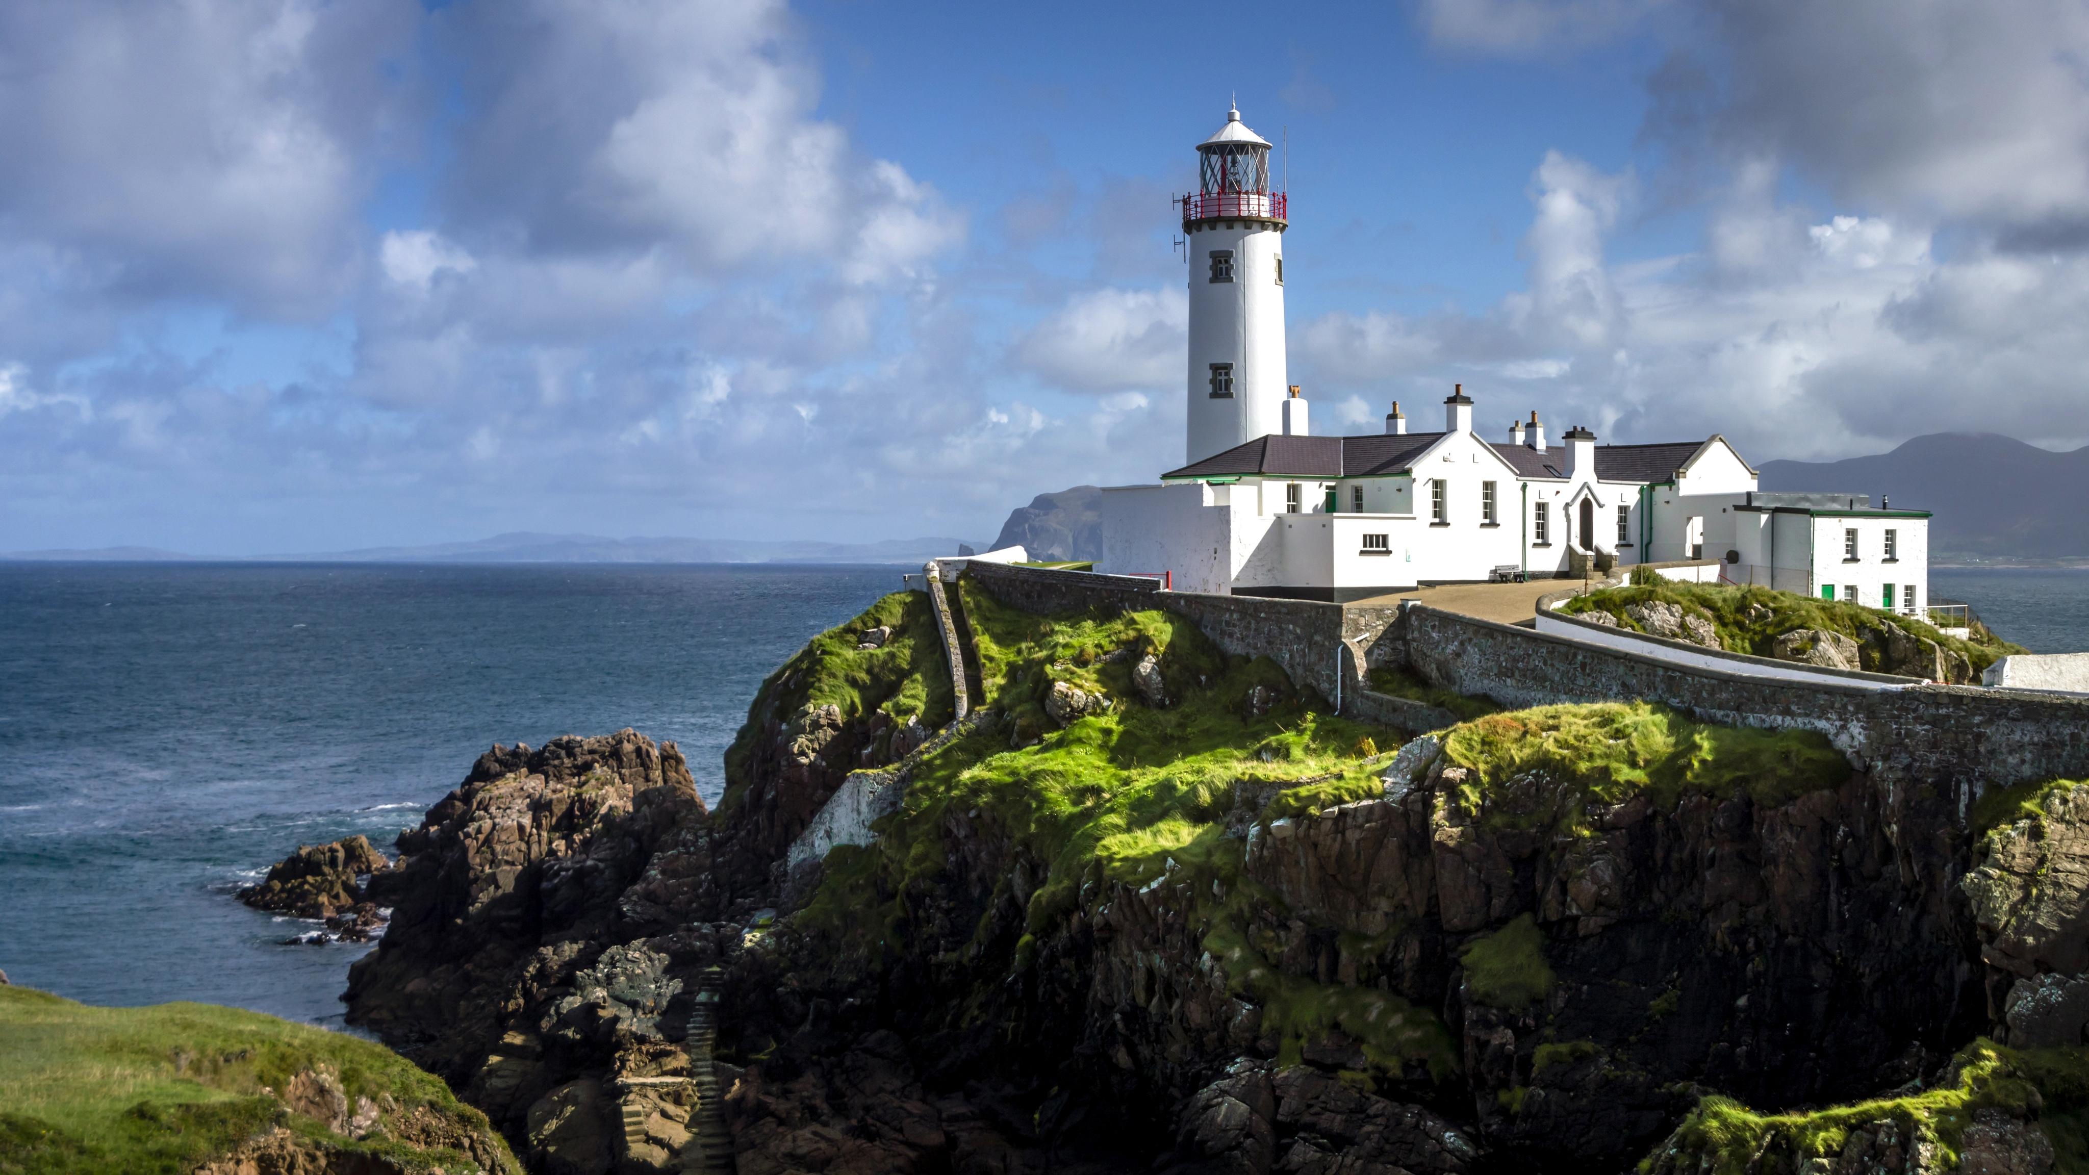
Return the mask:
[[(961, 539), (886, 539), (875, 544), (541, 535), (514, 531), (466, 544), (382, 546), (361, 550), (219, 556), (117, 546), (96, 550), (19, 550), (0, 560), (88, 562), (925, 562), (953, 556)], [(980, 546), (980, 544), (973, 544)], [(984, 550), (984, 548), (982, 548)]]

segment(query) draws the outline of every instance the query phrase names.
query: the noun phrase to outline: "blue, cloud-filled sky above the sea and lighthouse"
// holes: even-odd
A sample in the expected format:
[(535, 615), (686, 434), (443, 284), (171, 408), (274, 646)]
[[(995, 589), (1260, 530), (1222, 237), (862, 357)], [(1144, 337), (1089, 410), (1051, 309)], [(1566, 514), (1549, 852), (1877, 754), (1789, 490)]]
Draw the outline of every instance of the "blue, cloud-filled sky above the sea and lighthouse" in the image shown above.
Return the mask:
[(0, 550), (986, 537), (1151, 479), (1233, 96), (1320, 431), (1456, 381), (2072, 447), (2085, 61), (2047, 0), (0, 4)]

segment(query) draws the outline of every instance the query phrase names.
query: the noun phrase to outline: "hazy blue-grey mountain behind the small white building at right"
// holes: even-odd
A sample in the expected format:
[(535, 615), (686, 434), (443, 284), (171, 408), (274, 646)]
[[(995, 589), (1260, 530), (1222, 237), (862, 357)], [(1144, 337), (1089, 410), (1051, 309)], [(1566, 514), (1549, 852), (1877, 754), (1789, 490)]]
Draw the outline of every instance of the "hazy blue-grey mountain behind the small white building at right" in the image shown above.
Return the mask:
[(1993, 433), (1932, 433), (1872, 458), (1763, 462), (1761, 475), (1763, 489), (1930, 510), (1932, 562), (2089, 560), (2089, 447), (2056, 454)]

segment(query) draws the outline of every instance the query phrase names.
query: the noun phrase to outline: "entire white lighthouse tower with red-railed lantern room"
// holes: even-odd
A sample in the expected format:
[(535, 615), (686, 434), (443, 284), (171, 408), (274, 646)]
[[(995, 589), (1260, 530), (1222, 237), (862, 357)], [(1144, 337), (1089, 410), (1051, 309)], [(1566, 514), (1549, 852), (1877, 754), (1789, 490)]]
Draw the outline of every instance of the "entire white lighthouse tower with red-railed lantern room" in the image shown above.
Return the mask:
[(1189, 462), (1285, 429), (1285, 194), (1270, 142), (1241, 111), (1197, 144), (1201, 186), (1182, 197), (1189, 243)]

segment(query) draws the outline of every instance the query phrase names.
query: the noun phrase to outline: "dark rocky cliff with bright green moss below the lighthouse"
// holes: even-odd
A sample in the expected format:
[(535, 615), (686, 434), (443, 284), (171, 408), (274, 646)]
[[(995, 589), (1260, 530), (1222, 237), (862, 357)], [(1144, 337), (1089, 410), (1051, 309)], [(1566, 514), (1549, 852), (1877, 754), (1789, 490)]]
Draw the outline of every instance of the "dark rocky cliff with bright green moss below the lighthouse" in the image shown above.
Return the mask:
[[(950, 740), (890, 598), (762, 686), (717, 811), (633, 732), (483, 757), (372, 876), (351, 1020), (537, 1171), (2085, 1156), (2089, 788), (1968, 813), (1634, 702), (1416, 738), (1166, 613), (957, 596)], [(869, 843), (788, 876), (896, 761)]]

